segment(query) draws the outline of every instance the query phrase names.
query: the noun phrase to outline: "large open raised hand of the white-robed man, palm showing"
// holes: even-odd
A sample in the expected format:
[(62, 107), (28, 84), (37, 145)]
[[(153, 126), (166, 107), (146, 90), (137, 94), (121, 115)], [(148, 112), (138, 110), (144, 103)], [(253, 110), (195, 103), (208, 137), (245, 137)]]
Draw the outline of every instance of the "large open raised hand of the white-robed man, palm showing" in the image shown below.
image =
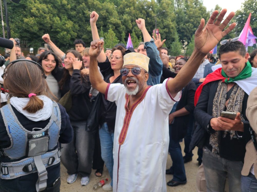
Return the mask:
[[(234, 27), (236, 23), (232, 23), (226, 30), (223, 29), (227, 26), (230, 20), (234, 17), (235, 13), (231, 12), (221, 24), (221, 21), (226, 14), (227, 9), (222, 9), (217, 20), (215, 21), (218, 11), (215, 10), (210, 16), (207, 24), (204, 26), (204, 19), (201, 19), (200, 25), (195, 32), (195, 49), (207, 54), (212, 50), (218, 42), (226, 36)], [(215, 21), (215, 22), (214, 22)]]

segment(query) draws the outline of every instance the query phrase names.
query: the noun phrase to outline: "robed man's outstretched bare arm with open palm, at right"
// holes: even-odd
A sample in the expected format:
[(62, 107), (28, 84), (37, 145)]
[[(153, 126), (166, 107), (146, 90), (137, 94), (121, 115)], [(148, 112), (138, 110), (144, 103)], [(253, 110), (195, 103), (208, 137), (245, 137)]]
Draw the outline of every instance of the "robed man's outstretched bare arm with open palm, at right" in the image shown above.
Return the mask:
[(215, 10), (205, 26), (204, 19), (201, 19), (200, 25), (195, 32), (195, 49), (192, 55), (190, 56), (185, 66), (179, 71), (177, 76), (168, 82), (168, 89), (172, 97), (175, 97), (176, 94), (182, 90), (183, 87), (185, 87), (194, 77), (204, 56), (236, 26), (236, 23), (232, 23), (226, 30), (223, 31), (223, 29), (235, 15), (234, 12), (231, 12), (221, 24), (221, 21), (226, 12), (227, 9), (223, 9), (215, 21), (219, 13), (217, 10)]

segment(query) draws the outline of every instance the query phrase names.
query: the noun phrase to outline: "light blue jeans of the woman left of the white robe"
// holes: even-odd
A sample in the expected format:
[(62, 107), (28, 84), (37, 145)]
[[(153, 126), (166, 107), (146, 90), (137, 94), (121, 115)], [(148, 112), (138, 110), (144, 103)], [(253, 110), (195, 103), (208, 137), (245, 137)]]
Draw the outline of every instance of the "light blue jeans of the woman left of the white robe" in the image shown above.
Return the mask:
[(108, 169), (110, 177), (112, 179), (111, 185), (113, 185), (113, 137), (114, 133), (109, 133), (107, 123), (104, 123), (99, 130), (99, 137), (101, 143), (102, 159)]

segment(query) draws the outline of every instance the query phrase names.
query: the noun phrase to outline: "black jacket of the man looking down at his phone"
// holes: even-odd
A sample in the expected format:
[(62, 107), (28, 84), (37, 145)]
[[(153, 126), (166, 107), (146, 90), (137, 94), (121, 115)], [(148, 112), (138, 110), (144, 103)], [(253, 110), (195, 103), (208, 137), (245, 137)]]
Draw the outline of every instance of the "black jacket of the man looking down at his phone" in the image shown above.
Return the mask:
[[(218, 83), (219, 81), (213, 81), (203, 87), (194, 111), (196, 122), (200, 124), (202, 129), (205, 129), (207, 131), (204, 146), (206, 146), (210, 151), (212, 151), (212, 146), (209, 144), (209, 139), (210, 134), (214, 133), (214, 130), (209, 123), (210, 120), (213, 118), (213, 100), (216, 90), (218, 88)], [(242, 137), (233, 138), (231, 140), (229, 134), (227, 134), (227, 136), (224, 138), (224, 131), (219, 131), (219, 156), (230, 161), (243, 161), (245, 155), (245, 145), (251, 139), (249, 133), (250, 124), (245, 114), (247, 99), (248, 95), (245, 93), (242, 111), (239, 111), (243, 114), (243, 117), (245, 119), (245, 121), (242, 121), (244, 123), (244, 132), (237, 132), (239, 135), (242, 135)]]

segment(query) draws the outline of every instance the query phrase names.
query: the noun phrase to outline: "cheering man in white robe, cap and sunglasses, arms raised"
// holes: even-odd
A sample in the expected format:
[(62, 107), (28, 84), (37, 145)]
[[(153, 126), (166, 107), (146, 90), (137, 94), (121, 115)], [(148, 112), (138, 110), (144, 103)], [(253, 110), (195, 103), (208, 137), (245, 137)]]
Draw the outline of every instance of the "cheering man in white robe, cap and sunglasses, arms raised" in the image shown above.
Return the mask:
[[(234, 12), (230, 13), (220, 25), (225, 13), (226, 9), (223, 9), (215, 21), (218, 11), (214, 11), (206, 26), (201, 19), (195, 33), (195, 49), (186, 65), (174, 79), (152, 87), (146, 84), (149, 58), (138, 53), (129, 53), (123, 58), (121, 75), (124, 85), (103, 81), (97, 69), (97, 56), (104, 42), (91, 42), (89, 77), (92, 87), (117, 104), (113, 191), (166, 191), (168, 114), (179, 100), (180, 90), (192, 79), (205, 55), (235, 27), (233, 23), (222, 31), (234, 16)], [(138, 25), (141, 20), (137, 20)]]

